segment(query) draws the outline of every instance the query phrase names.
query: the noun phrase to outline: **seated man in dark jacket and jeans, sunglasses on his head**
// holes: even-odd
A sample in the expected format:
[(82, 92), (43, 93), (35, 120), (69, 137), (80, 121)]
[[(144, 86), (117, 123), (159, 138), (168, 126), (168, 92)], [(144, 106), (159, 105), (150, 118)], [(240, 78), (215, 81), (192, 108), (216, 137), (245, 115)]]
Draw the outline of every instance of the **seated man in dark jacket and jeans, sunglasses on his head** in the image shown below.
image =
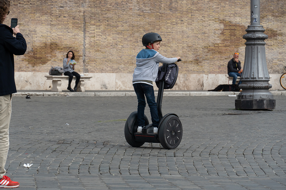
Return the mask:
[[(237, 77), (241, 76), (242, 69), (240, 66), (240, 61), (238, 60), (239, 53), (234, 53), (233, 58), (227, 64), (227, 74), (233, 77), (233, 84), (236, 83)], [(241, 80), (238, 85), (241, 84)]]

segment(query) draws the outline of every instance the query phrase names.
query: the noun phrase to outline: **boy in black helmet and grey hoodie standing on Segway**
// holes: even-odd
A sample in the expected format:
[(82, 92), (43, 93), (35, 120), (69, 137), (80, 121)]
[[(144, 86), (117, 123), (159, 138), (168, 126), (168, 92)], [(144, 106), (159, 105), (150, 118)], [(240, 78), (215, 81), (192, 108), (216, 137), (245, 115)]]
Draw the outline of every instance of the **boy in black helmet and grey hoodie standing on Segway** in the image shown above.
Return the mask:
[(156, 107), (153, 82), (155, 82), (158, 74), (159, 62), (171, 64), (180, 59), (180, 57), (166, 58), (161, 55), (158, 52), (161, 41), (162, 38), (158, 33), (146, 33), (142, 37), (142, 44), (146, 49), (142, 49), (136, 56), (136, 68), (134, 69), (132, 84), (138, 99), (137, 132), (142, 132), (142, 128), (145, 126), (144, 110), (146, 106), (146, 97), (150, 108), (154, 133), (158, 133), (159, 116)]

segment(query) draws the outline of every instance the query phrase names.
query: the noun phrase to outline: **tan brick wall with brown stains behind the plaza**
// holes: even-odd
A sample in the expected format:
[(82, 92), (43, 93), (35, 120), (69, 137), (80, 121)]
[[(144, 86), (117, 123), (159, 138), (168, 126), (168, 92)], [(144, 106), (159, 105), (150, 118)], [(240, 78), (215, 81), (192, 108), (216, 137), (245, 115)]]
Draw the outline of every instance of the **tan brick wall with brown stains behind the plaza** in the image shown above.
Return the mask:
[[(15, 56), (16, 72), (48, 72), (75, 52), (77, 72), (132, 73), (145, 33), (163, 38), (160, 53), (182, 57), (180, 73), (223, 74), (234, 52), (244, 63), (250, 0), (13, 0), (27, 40), (25, 55)], [(270, 74), (283, 72), (286, 50), (285, 0), (261, 0)]]

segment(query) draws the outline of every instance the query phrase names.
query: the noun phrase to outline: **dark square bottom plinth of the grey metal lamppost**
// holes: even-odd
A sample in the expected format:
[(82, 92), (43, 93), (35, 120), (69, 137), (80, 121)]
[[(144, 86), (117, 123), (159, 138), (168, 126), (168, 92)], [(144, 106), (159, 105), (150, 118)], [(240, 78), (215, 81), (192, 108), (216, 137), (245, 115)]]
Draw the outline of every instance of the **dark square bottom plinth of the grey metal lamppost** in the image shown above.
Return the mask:
[(236, 110), (272, 110), (275, 109), (276, 101), (273, 99), (245, 99), (235, 100)]

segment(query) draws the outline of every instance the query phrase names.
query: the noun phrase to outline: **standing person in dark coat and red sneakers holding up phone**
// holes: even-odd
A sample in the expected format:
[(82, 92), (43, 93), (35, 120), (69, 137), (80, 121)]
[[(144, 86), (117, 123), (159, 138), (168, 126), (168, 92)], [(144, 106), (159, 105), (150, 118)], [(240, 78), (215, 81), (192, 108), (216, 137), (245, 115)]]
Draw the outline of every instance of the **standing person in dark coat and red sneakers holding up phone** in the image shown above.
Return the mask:
[(9, 0), (0, 0), (0, 188), (19, 186), (19, 182), (5, 176), (5, 164), (9, 150), (12, 94), (17, 92), (14, 79), (14, 55), (24, 55), (27, 50), (26, 40), (20, 33), (19, 25), (10, 28), (3, 24), (10, 12), (10, 4)]

